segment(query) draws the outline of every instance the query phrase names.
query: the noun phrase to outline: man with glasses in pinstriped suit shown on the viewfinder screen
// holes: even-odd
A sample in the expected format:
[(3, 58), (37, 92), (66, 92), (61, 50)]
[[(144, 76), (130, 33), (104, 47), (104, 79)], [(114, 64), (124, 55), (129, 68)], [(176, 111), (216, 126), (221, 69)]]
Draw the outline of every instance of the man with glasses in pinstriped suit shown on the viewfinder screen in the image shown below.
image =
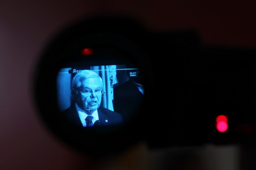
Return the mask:
[(78, 126), (108, 126), (123, 122), (122, 115), (100, 107), (103, 83), (92, 70), (82, 70), (72, 80), (70, 95), (74, 103), (62, 113)]

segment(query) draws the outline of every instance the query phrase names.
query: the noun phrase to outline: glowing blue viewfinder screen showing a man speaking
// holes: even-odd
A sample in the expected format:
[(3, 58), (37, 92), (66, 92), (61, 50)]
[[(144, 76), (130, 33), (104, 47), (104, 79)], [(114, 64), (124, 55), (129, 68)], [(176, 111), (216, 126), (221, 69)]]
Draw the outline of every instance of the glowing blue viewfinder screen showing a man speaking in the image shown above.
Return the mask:
[(145, 95), (140, 70), (125, 64), (62, 68), (56, 89), (61, 114), (80, 127), (127, 123)]

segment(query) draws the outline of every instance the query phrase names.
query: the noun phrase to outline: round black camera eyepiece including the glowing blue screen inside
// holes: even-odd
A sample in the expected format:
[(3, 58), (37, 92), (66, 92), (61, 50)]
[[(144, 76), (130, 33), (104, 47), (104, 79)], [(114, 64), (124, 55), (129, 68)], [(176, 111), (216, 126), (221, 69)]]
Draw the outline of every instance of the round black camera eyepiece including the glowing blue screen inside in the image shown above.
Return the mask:
[(150, 63), (145, 30), (124, 18), (69, 26), (42, 53), (35, 98), (46, 127), (86, 154), (121, 152), (144, 139)]

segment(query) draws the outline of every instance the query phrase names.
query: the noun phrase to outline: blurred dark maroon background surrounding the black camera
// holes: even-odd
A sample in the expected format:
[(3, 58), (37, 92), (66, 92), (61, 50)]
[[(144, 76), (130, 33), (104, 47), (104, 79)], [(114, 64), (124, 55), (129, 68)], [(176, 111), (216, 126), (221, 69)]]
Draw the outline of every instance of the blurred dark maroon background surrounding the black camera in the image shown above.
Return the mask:
[(1, 1), (0, 169), (250, 169), (253, 152), (237, 145), (150, 150), (139, 143), (101, 159), (77, 153), (39, 119), (32, 75), (52, 36), (84, 16), (122, 13), (154, 31), (196, 29), (207, 45), (256, 48), (254, 7), (252, 1)]

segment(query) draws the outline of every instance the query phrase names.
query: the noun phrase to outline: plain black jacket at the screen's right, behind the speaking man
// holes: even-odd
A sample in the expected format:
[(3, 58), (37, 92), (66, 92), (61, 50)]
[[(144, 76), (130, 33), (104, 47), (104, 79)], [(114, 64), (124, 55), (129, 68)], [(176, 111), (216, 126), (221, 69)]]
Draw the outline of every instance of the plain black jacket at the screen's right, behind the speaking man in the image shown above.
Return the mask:
[(126, 81), (124, 84), (114, 88), (114, 111), (123, 115), (124, 122), (138, 111), (144, 96), (132, 81)]

